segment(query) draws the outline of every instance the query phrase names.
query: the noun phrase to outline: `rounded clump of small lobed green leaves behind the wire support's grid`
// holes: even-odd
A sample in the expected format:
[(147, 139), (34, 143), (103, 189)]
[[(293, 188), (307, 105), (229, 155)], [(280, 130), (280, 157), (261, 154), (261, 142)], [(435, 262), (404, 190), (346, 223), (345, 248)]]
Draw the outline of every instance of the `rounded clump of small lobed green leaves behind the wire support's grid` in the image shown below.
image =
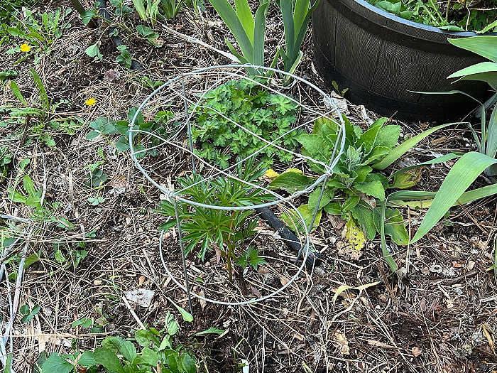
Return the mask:
[(231, 80), (207, 92), (201, 105), (203, 107), (197, 107), (195, 111), (192, 138), (202, 144), (197, 153), (206, 161), (226, 168), (233, 156), (246, 158), (253, 153), (262, 156), (263, 166), (273, 163), (273, 156), (285, 163), (292, 160), (291, 154), (274, 146), (258, 150), (267, 145), (263, 139), (283, 148), (295, 148), (295, 138), (303, 132), (295, 130), (287, 134), (297, 120), (295, 102), (279, 94), (270, 94), (256, 83)]

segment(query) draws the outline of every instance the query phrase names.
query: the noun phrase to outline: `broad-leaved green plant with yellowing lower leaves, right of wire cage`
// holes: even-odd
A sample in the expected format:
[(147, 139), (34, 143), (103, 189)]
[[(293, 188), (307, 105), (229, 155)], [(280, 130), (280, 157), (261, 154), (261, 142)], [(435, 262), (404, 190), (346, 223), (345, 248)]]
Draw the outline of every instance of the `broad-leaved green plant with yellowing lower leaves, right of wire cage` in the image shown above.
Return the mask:
[[(385, 200), (386, 189), (391, 186), (381, 173), (373, 173), (373, 166), (393, 150), (400, 135), (400, 126), (385, 126), (387, 120), (387, 118), (378, 119), (363, 132), (359, 126), (351, 124), (344, 117), (346, 126), (344, 153), (334, 168), (334, 174), (327, 181), (320, 205), (317, 207), (321, 188), (316, 188), (310, 193), (307, 205), (299, 207), (307, 227), (317, 207), (319, 215), (313, 229), (319, 224), (318, 217), (321, 210), (324, 210), (331, 215), (341, 215), (346, 221), (354, 220), (359, 223), (359, 226), (364, 227), (368, 239), (374, 239), (376, 233), (380, 232), (381, 205)], [(312, 134), (302, 134), (297, 137), (297, 141), (302, 144), (302, 154), (328, 164), (339, 135), (339, 128), (336, 121), (317, 119)], [(310, 169), (319, 175), (326, 171), (320, 163), (308, 161), (308, 164)], [(284, 189), (293, 193), (295, 190), (304, 190), (314, 182), (315, 178), (307, 177), (297, 171), (287, 171), (275, 178), (269, 188)], [(400, 212), (390, 208), (387, 211), (389, 222), (386, 234), (398, 244), (408, 244), (409, 237)], [(288, 223), (288, 217), (283, 218)], [(292, 224), (290, 228), (295, 230)], [(300, 228), (297, 226), (297, 229)]]

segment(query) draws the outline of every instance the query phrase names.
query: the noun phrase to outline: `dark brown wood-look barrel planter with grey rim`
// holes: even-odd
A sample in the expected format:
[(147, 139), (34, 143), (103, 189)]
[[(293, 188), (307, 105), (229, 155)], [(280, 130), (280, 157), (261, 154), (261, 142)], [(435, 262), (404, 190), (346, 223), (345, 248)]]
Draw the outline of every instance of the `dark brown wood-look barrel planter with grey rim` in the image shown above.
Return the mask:
[(364, 0), (322, 0), (312, 15), (312, 33), (315, 65), (324, 80), (349, 88), (346, 98), (379, 114), (442, 120), (476, 107), (462, 94), (409, 91), (463, 90), (480, 100), (491, 95), (486, 83), (447, 80), (452, 72), (484, 61), (447, 41), (475, 33), (407, 21)]

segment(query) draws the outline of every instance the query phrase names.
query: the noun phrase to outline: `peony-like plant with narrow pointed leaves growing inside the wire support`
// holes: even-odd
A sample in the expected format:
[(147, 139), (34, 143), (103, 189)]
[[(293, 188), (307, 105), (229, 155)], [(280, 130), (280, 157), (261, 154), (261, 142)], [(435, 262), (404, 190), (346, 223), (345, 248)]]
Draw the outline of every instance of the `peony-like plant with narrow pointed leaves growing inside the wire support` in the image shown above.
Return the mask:
[[(237, 177), (249, 183), (263, 175), (264, 170), (254, 165), (253, 158), (246, 161), (246, 166), (237, 166)], [(192, 201), (214, 206), (249, 206), (256, 205), (272, 196), (261, 193), (238, 180), (217, 178), (205, 180), (200, 175), (178, 178), (178, 185)], [(172, 202), (161, 202), (157, 212), (172, 217), (160, 229), (167, 230), (176, 224), (175, 206)], [(185, 254), (199, 248), (197, 256), (203, 261), (207, 249), (214, 249), (218, 258), (224, 257), (229, 273), (229, 281), (233, 281), (233, 261), (245, 268), (248, 265), (257, 268), (263, 264), (263, 259), (258, 256), (256, 247), (248, 246), (246, 242), (256, 234), (257, 220), (251, 218), (251, 210), (217, 210), (207, 207), (190, 209), (185, 204), (178, 205), (178, 213), (182, 237), (185, 242)], [(239, 253), (238, 255), (236, 253)]]

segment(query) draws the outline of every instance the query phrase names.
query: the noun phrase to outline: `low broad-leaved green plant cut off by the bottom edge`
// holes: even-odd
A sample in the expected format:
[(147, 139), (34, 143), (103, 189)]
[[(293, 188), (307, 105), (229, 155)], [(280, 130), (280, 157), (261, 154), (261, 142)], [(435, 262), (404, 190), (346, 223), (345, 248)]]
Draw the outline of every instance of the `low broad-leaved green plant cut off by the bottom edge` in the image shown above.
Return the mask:
[[(80, 324), (78, 324), (80, 325)], [(82, 324), (81, 324), (82, 325)], [(165, 330), (137, 330), (134, 340), (111, 336), (92, 351), (75, 351), (72, 355), (51, 354), (42, 364), (43, 373), (108, 372), (108, 373), (196, 373), (195, 357), (182, 345), (173, 345), (179, 325), (174, 316), (165, 317)], [(102, 368), (99, 368), (102, 367)], [(103, 370), (102, 370), (103, 369)]]

